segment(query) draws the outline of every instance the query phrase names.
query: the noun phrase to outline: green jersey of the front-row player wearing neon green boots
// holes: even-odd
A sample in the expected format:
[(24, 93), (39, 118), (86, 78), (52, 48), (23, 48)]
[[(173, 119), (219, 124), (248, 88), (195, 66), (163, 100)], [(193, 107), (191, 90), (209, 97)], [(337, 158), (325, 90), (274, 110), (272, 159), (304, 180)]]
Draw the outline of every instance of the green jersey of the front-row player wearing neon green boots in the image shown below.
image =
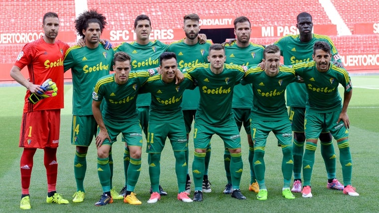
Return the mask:
[(295, 71), (287, 66), (280, 66), (274, 77), (268, 76), (260, 67), (248, 69), (241, 84), (253, 85), (251, 117), (264, 121), (288, 119), (284, 91), (295, 80)]

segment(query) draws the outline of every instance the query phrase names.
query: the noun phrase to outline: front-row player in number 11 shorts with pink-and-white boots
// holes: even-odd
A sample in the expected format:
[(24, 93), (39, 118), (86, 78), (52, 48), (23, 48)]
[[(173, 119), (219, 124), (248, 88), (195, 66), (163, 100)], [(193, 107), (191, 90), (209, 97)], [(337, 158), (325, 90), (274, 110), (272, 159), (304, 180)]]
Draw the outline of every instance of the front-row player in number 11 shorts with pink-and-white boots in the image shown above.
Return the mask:
[(146, 152), (149, 155), (149, 175), (152, 195), (148, 203), (157, 203), (159, 194), (159, 178), (161, 174), (161, 153), (168, 137), (175, 156), (175, 171), (178, 179), (178, 200), (192, 202), (186, 193), (186, 173), (188, 163), (185, 152), (188, 152), (188, 142), (182, 113), (183, 92), (193, 89), (192, 78), (185, 73), (185, 79), (180, 85), (175, 84), (177, 57), (174, 52), (164, 52), (160, 56), (162, 75), (154, 75), (141, 87), (140, 92), (151, 93), (148, 144)]

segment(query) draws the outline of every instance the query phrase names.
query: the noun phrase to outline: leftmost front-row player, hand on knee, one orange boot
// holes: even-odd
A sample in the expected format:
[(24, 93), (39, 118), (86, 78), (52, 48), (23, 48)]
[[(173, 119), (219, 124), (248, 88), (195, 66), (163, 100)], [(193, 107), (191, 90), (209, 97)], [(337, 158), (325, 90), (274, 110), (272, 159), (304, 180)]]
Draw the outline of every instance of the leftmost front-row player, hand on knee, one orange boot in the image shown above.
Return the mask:
[[(128, 168), (128, 183), (125, 203), (140, 205), (141, 202), (133, 193), (141, 171), (142, 134), (136, 112), (136, 98), (140, 86), (149, 78), (153, 70), (131, 72), (131, 58), (125, 52), (117, 52), (113, 58), (114, 74), (100, 78), (92, 94), (93, 116), (98, 124), (96, 136), (97, 172), (103, 188), (103, 196), (95, 206), (113, 203), (111, 196), (111, 171), (109, 151), (116, 142), (117, 135), (122, 133), (123, 141), (131, 151), (131, 165)], [(152, 73), (154, 74), (154, 73)], [(103, 109), (100, 105), (103, 103)]]

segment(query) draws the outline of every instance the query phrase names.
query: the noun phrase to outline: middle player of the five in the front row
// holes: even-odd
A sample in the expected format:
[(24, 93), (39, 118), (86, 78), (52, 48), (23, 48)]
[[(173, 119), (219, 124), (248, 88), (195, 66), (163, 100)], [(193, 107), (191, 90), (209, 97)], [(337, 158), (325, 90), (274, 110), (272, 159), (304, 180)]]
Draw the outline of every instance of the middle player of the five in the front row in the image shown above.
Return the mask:
[(224, 141), (230, 152), (230, 171), (234, 191), (231, 197), (245, 200), (239, 190), (242, 175), (241, 141), (231, 111), (234, 85), (243, 77), (244, 70), (238, 65), (224, 64), (225, 49), (221, 44), (209, 47), (208, 64), (196, 65), (188, 73), (197, 80), (200, 102), (197, 108), (194, 131), (194, 159), (192, 175), (195, 184), (193, 201), (202, 201), (202, 179), (206, 148), (213, 134)]

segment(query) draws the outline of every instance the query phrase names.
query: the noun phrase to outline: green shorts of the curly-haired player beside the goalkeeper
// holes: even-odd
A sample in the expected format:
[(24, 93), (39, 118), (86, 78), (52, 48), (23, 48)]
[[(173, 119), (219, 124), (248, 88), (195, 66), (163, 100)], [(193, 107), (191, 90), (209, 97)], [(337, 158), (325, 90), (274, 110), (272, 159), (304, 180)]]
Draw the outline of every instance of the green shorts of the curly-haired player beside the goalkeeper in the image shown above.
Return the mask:
[(97, 123), (93, 115), (73, 115), (71, 126), (71, 144), (88, 147), (96, 137)]

